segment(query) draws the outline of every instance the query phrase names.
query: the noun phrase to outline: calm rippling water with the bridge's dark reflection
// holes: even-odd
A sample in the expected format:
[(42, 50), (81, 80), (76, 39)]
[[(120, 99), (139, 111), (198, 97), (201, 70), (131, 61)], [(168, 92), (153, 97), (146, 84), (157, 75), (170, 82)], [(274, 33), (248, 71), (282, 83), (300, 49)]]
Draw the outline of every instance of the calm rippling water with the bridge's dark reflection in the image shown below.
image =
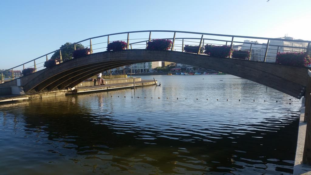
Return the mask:
[(154, 77), (0, 104), (0, 174), (292, 173), (300, 100), (231, 75)]

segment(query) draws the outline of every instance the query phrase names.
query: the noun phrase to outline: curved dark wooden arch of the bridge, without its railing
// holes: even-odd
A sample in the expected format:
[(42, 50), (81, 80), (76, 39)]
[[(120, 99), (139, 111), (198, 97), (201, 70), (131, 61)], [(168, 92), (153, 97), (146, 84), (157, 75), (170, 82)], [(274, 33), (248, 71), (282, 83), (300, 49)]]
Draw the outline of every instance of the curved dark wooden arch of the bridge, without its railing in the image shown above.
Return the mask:
[(301, 98), (307, 84), (307, 69), (232, 58), (214, 58), (177, 51), (105, 51), (72, 59), (53, 68), (21, 78), (24, 91), (74, 87), (97, 73), (120, 66), (149, 61), (188, 64), (245, 78), (290, 96)]

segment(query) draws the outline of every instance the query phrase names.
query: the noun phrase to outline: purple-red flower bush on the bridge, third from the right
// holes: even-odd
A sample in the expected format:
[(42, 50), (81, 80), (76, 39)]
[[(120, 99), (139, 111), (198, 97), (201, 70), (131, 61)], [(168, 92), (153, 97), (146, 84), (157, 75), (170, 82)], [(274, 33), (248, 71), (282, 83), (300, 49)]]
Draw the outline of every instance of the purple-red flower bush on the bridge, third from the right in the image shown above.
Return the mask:
[(213, 57), (224, 58), (230, 57), (232, 54), (232, 49), (229, 45), (205, 45), (205, 54)]

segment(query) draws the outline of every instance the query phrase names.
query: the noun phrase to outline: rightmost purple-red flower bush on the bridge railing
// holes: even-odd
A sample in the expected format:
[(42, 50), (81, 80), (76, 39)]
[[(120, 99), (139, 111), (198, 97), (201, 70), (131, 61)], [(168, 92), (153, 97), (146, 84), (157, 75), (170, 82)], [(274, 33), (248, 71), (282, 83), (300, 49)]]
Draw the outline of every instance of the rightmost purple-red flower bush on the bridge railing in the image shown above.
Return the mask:
[(276, 64), (288, 66), (307, 67), (311, 63), (311, 58), (304, 52), (278, 52), (276, 55)]

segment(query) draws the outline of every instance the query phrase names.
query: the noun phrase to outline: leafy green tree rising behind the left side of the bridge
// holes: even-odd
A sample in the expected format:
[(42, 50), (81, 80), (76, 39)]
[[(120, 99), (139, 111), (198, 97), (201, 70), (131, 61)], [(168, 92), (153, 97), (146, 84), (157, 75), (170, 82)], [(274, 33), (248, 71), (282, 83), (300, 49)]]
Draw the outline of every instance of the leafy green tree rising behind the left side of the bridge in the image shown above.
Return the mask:
[[(68, 45), (71, 45), (71, 46), (68, 46)], [(68, 47), (66, 47), (66, 46), (68, 46)], [(68, 60), (72, 59), (72, 53), (74, 51), (74, 45), (72, 45), (72, 43), (70, 43), (70, 42), (67, 42), (64, 45), (60, 46), (60, 48), (63, 48), (63, 47), (66, 47), (64, 49), (61, 49), (63, 61), (68, 61)], [(76, 49), (84, 49), (84, 46), (82, 44), (76, 44)], [(54, 54), (51, 56), (51, 59), (53, 59), (53, 60), (60, 59), (59, 50), (54, 52)]]

